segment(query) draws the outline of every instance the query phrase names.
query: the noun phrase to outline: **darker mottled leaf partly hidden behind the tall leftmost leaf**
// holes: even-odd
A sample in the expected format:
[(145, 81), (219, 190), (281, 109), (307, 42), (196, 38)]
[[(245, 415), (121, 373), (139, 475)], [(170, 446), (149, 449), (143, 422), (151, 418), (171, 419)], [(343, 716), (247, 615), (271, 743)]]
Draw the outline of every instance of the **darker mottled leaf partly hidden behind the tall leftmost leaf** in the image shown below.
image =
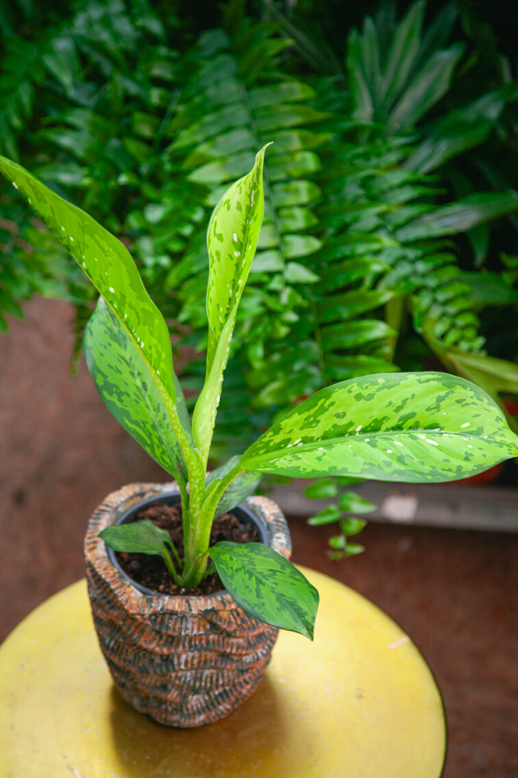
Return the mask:
[[(151, 380), (141, 350), (103, 297), (99, 297), (86, 325), (83, 347), (89, 371), (108, 410), (162, 468), (185, 479), (185, 462), (164, 398)], [(180, 389), (177, 403), (182, 397)], [(183, 424), (189, 429), (188, 417)]]

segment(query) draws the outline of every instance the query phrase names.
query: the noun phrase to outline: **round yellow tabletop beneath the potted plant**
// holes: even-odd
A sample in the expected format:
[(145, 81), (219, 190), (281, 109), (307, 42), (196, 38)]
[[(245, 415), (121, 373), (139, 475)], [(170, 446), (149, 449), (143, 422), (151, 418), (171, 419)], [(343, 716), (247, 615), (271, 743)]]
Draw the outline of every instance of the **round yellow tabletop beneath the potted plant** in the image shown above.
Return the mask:
[(123, 702), (97, 645), (85, 581), (40, 605), (0, 648), (0, 778), (439, 778), (443, 704), (383, 612), (303, 569), (315, 641), (281, 632), (259, 689), (196, 730)]

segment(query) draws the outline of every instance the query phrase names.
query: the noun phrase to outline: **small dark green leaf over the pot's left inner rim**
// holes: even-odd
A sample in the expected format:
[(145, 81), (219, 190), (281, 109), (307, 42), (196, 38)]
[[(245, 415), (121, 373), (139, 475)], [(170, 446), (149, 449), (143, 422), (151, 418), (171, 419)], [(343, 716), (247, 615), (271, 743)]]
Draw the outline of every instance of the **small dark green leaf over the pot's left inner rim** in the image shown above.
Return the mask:
[(161, 556), (169, 573), (177, 580), (171, 555), (166, 548), (166, 544), (173, 548), (171, 535), (167, 530), (156, 527), (152, 521), (144, 519), (133, 524), (106, 527), (99, 532), (99, 538), (103, 538), (113, 551)]

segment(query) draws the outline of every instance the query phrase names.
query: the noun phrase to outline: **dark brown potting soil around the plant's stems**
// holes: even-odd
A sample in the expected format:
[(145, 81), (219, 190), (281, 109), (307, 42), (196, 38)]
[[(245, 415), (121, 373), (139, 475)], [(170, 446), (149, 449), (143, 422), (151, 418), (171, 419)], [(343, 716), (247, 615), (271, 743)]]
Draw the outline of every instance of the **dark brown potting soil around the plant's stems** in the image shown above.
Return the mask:
[[(183, 562), (183, 533), (182, 533), (182, 509), (179, 505), (165, 505), (155, 503), (144, 510), (139, 511), (134, 521), (151, 520), (157, 527), (169, 532), (176, 551)], [(223, 513), (214, 520), (210, 532), (210, 545), (217, 541), (228, 540), (233, 543), (259, 543), (261, 537), (259, 530), (253, 524), (241, 524), (233, 513)], [(163, 592), (164, 594), (214, 594), (224, 590), (220, 576), (216, 572), (210, 573), (196, 589), (185, 589), (176, 586), (169, 575), (165, 562), (159, 556), (149, 554), (133, 554), (116, 552), (116, 559), (120, 566), (137, 584)]]

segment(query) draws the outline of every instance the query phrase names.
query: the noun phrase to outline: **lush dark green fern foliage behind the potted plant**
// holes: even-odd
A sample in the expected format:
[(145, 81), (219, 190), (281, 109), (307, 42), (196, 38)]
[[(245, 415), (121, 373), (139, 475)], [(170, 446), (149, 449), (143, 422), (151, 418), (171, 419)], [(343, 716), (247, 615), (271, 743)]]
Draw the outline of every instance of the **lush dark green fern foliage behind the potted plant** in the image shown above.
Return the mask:
[[(208, 216), (274, 141), (217, 453), (366, 373), (440, 360), (516, 394), (518, 88), (491, 20), (384, 3), (344, 36), (335, 2), (46, 5), (0, 2), (0, 151), (130, 247), (193, 396)], [(0, 209), (0, 324), (43, 293), (81, 335), (92, 289), (5, 187)]]

